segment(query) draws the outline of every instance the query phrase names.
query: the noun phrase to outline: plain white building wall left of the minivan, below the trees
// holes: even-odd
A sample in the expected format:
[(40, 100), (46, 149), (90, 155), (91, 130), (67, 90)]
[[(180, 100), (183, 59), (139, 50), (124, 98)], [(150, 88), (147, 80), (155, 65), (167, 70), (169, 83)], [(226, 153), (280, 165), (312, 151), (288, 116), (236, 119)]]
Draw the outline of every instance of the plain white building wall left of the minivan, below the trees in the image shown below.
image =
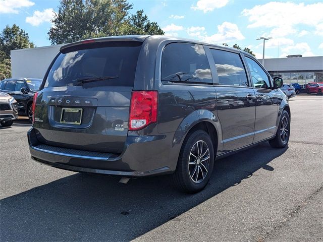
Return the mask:
[(62, 45), (11, 50), (12, 77), (43, 78)]

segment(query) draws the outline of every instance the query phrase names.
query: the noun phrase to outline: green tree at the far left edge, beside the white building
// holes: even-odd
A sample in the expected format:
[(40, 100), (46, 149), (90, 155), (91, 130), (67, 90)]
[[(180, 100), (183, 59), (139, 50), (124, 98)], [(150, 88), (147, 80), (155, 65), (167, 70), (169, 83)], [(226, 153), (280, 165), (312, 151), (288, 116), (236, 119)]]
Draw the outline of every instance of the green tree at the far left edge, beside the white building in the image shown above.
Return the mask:
[(0, 80), (11, 77), (10, 51), (14, 49), (33, 48), (28, 34), (18, 25), (8, 25), (0, 33)]

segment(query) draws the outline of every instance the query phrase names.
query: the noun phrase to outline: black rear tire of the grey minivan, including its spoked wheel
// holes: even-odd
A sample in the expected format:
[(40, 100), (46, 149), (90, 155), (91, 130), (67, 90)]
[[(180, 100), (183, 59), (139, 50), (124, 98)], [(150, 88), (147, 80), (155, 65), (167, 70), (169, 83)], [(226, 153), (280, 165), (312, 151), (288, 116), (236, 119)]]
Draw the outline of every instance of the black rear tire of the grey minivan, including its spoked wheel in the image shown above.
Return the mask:
[(197, 193), (203, 190), (210, 179), (213, 165), (214, 148), (211, 138), (202, 130), (194, 131), (183, 142), (177, 168), (173, 174), (174, 185), (185, 193)]

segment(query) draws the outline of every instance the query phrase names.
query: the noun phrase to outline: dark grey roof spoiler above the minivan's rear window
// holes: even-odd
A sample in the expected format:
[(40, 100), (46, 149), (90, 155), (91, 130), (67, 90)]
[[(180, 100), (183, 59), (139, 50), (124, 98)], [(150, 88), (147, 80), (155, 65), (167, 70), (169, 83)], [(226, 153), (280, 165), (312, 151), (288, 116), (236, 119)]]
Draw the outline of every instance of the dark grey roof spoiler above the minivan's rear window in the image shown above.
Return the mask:
[(60, 51), (70, 48), (72, 46), (78, 46), (82, 44), (89, 44), (89, 43), (99, 43), (99, 42), (110, 42), (110, 41), (136, 41), (136, 42), (143, 42), (147, 37), (150, 35), (125, 35), (125, 36), (111, 36), (111, 37), (102, 37), (102, 38), (94, 38), (94, 39), (86, 39), (77, 42), (73, 42), (70, 44), (63, 45), (60, 48)]

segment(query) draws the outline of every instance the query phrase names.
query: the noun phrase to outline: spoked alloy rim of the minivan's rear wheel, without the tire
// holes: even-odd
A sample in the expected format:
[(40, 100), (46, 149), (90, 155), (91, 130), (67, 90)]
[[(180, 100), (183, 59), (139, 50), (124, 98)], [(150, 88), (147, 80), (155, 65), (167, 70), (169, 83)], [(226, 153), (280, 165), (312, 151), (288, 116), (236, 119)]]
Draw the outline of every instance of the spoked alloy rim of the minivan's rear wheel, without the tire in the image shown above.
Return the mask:
[(188, 170), (194, 183), (201, 183), (207, 175), (210, 165), (210, 151), (203, 140), (195, 142), (189, 158)]

